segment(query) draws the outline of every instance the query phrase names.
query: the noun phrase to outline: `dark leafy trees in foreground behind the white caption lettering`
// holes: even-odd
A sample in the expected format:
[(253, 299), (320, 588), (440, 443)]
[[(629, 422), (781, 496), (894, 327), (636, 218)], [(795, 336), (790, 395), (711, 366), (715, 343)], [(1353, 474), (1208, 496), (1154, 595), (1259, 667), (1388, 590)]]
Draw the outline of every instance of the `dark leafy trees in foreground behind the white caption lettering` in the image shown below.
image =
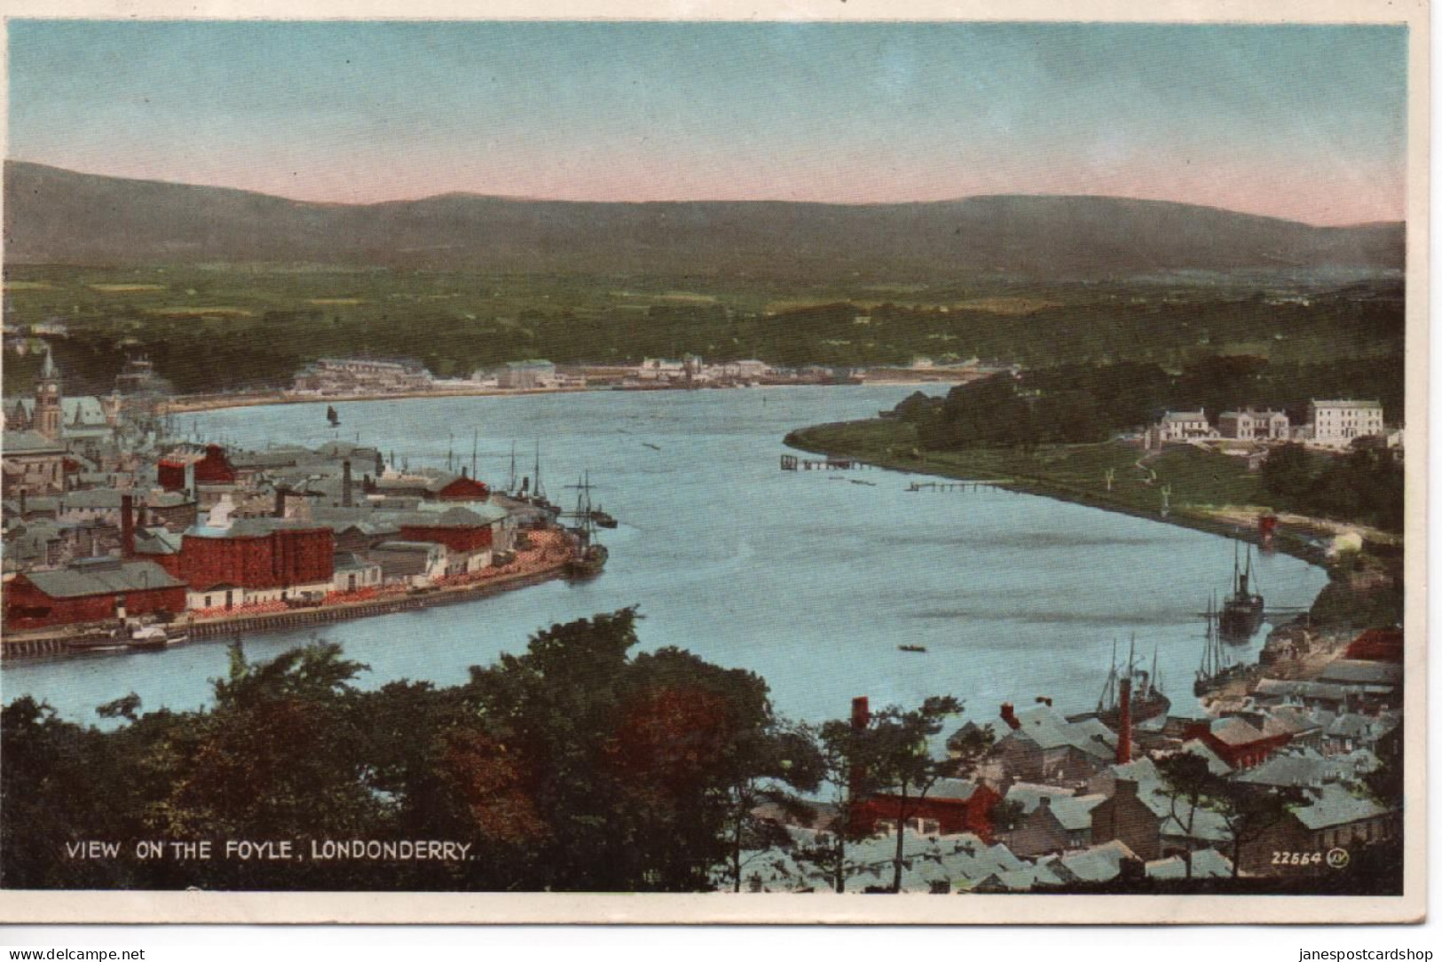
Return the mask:
[[(757, 675), (675, 649), (634, 652), (637, 614), (536, 633), (466, 684), (356, 685), (363, 665), (314, 643), (273, 661), (231, 649), (205, 710), (98, 708), (110, 731), (19, 698), (0, 712), (0, 884), (9, 888), (696, 891), (740, 890), (783, 821), (839, 828), (812, 851), (838, 884), (852, 792), (940, 775), (926, 738), (955, 700), (883, 710), (864, 728), (790, 724)], [(784, 816), (784, 818), (783, 818)], [(112, 841), (120, 854), (68, 847)], [(160, 841), (164, 857), (138, 857)], [(225, 839), (291, 841), (288, 860), (222, 857)], [(310, 858), (326, 839), (435, 839), (464, 860)], [(173, 842), (212, 842), (177, 858)], [(900, 868), (897, 870), (900, 871)]]

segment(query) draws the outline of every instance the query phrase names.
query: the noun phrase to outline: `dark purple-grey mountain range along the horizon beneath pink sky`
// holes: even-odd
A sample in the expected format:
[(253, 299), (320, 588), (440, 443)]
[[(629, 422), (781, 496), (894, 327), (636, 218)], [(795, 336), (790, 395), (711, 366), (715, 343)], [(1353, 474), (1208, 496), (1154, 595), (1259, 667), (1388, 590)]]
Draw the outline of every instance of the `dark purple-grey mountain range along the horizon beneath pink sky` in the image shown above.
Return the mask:
[(1322, 228), (1093, 196), (831, 205), (443, 195), (339, 205), (6, 162), (4, 244), (7, 262), (27, 264), (304, 262), (839, 280), (1400, 270), (1406, 231), (1396, 222)]

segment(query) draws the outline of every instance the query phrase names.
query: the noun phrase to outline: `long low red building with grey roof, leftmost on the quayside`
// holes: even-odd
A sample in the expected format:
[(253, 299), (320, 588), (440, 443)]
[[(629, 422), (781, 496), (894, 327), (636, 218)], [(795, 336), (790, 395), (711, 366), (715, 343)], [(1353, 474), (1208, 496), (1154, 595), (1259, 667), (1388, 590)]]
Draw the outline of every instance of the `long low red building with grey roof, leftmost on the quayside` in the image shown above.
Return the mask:
[(58, 571), (17, 574), (4, 591), (7, 630), (104, 622), (120, 616), (177, 613), (185, 584), (150, 561), (87, 558)]

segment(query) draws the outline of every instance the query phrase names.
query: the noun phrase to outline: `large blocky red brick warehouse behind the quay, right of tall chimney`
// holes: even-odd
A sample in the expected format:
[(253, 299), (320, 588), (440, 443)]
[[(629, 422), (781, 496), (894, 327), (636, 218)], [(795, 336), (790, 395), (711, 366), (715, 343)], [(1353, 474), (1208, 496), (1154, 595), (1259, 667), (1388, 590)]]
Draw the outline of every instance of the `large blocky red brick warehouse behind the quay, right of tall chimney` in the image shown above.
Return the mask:
[(187, 531), (180, 542), (179, 571), (192, 588), (213, 584), (284, 588), (330, 581), (335, 551), (330, 528), (247, 518), (225, 529)]

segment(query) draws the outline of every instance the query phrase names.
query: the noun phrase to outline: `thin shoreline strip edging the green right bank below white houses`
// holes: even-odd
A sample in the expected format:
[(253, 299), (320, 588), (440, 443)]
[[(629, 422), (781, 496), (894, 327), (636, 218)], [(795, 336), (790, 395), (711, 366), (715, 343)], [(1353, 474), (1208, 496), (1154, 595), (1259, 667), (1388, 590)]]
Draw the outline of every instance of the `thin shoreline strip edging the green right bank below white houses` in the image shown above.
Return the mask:
[[(1218, 535), (1224, 538), (1234, 538), (1246, 541), (1262, 547), (1262, 537), (1256, 529), (1242, 528), (1234, 522), (1226, 522), (1210, 515), (1198, 515), (1190, 512), (1185, 508), (1177, 508), (1168, 515), (1161, 515), (1161, 512), (1146, 512), (1131, 505), (1123, 505), (1119, 502), (1110, 502), (1099, 499), (1090, 493), (1077, 492), (1056, 482), (1048, 482), (1040, 477), (1015, 477), (1014, 475), (988, 475), (986, 472), (966, 472), (965, 475), (956, 472), (955, 469), (947, 469), (942, 464), (930, 464), (924, 459), (921, 460), (906, 460), (897, 457), (877, 457), (872, 453), (862, 453), (858, 450), (848, 450), (845, 447), (828, 449), (815, 441), (809, 441), (805, 434), (818, 428), (836, 427), (841, 424), (855, 424), (855, 421), (832, 421), (828, 424), (812, 424), (808, 427), (796, 428), (789, 431), (783, 438), (787, 447), (799, 451), (806, 451), (810, 454), (841, 454), (848, 457), (855, 457), (867, 464), (874, 464), (885, 470), (908, 473), (908, 475), (927, 475), (932, 477), (953, 477), (956, 480), (981, 480), (992, 483), (998, 487), (1005, 487), (1007, 490), (1037, 495), (1040, 498), (1051, 498), (1053, 500), (1064, 500), (1073, 505), (1083, 505), (1086, 508), (1097, 508), (1100, 511), (1110, 511), (1119, 515), (1129, 515), (1132, 518), (1142, 518), (1146, 521), (1155, 521), (1167, 525), (1175, 525), (1178, 528), (1190, 528), (1193, 531), (1201, 531), (1203, 534)], [(1327, 552), (1318, 545), (1305, 541), (1296, 532), (1289, 532), (1279, 528), (1276, 538), (1272, 542), (1275, 551), (1291, 555), (1308, 564), (1317, 565), (1325, 571), (1331, 571), (1332, 565), (1327, 557)]]

